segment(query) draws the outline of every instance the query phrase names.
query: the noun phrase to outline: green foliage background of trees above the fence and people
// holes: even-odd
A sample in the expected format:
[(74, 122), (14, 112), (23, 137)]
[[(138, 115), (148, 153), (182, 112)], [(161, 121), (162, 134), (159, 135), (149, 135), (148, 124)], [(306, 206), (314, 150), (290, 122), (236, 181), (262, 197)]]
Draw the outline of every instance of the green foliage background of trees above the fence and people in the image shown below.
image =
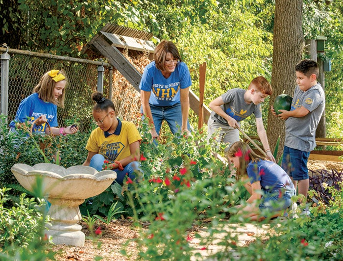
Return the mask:
[[(149, 31), (155, 43), (170, 39), (190, 67), (196, 94), (198, 66), (207, 62), (205, 104), (229, 88), (246, 88), (258, 75), (271, 77), (274, 0), (18, 0), (0, 4), (0, 35), (11, 48), (83, 57), (82, 47), (107, 23)], [(305, 38), (327, 36), (324, 58), (332, 60), (332, 71), (325, 73), (327, 137), (343, 136), (342, 22), (341, 1), (303, 1)], [(265, 114), (268, 108), (267, 101)], [(254, 119), (246, 126), (254, 126)], [(245, 131), (256, 134), (255, 128)]]

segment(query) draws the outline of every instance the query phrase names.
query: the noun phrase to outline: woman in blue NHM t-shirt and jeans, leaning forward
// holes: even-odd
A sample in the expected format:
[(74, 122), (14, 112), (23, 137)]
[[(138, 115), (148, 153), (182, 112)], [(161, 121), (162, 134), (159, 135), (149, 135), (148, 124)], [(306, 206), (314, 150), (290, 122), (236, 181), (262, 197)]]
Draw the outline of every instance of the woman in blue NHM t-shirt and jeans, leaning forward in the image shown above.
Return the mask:
[(188, 121), (189, 87), (192, 85), (187, 65), (177, 47), (163, 40), (154, 52), (154, 60), (144, 69), (139, 88), (142, 113), (149, 118), (152, 138), (158, 138), (162, 121), (172, 133), (191, 130)]

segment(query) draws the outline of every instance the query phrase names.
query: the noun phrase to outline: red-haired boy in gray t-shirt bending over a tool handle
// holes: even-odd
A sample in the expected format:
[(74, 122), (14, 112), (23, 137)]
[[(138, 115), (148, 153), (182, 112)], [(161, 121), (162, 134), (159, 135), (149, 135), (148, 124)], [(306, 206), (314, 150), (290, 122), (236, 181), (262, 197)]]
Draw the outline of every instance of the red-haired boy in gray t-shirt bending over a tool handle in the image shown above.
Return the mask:
[(240, 140), (240, 122), (251, 114), (255, 115), (257, 134), (261, 139), (268, 158), (275, 162), (270, 152), (266, 130), (263, 126), (261, 105), (268, 95), (272, 94), (270, 83), (263, 76), (254, 78), (247, 90), (231, 89), (220, 97), (213, 100), (209, 107), (212, 109), (207, 123), (207, 139), (215, 133), (219, 133), (217, 141), (227, 143), (225, 151)]

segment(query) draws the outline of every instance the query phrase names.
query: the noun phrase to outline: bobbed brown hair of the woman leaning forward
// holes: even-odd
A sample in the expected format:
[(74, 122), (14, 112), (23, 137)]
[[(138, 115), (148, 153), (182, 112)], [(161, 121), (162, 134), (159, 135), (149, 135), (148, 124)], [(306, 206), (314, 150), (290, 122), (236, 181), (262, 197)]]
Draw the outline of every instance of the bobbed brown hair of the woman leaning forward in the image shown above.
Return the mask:
[(164, 71), (165, 63), (166, 63), (166, 55), (170, 52), (174, 59), (181, 60), (181, 56), (179, 50), (177, 49), (176, 45), (172, 41), (162, 40), (155, 48), (154, 52), (154, 60), (156, 64), (156, 68)]

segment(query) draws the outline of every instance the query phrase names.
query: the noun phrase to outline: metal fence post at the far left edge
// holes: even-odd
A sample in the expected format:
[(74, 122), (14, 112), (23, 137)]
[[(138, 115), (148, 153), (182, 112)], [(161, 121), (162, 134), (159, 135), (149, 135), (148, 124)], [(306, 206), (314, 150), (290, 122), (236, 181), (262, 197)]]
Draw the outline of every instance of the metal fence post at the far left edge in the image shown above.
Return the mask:
[(3, 115), (8, 115), (8, 70), (9, 70), (9, 54), (7, 45), (2, 47), (7, 51), (1, 54), (1, 111)]

